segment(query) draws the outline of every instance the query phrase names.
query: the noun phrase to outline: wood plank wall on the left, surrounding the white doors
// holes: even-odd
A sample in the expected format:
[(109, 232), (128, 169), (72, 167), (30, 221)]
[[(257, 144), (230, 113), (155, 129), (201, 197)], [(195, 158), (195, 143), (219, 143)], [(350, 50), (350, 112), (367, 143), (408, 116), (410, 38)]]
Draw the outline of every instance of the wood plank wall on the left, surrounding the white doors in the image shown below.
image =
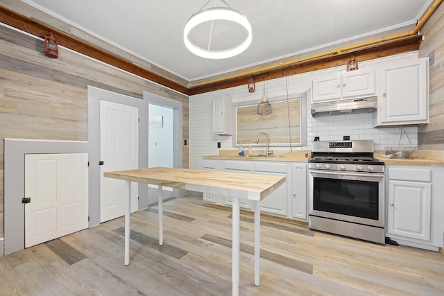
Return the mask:
[[(142, 99), (180, 101), (188, 139), (188, 96), (73, 51), (46, 58), (43, 42), (0, 26), (0, 238), (3, 237), (3, 139), (87, 141), (87, 85)], [(188, 167), (188, 146), (182, 146)]]

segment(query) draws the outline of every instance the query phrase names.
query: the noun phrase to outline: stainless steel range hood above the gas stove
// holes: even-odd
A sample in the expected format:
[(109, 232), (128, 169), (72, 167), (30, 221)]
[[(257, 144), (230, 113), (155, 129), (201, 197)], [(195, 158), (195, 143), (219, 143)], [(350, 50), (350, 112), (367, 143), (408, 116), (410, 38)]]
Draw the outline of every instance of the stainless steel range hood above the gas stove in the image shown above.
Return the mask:
[(311, 104), (311, 115), (370, 113), (377, 109), (377, 97)]

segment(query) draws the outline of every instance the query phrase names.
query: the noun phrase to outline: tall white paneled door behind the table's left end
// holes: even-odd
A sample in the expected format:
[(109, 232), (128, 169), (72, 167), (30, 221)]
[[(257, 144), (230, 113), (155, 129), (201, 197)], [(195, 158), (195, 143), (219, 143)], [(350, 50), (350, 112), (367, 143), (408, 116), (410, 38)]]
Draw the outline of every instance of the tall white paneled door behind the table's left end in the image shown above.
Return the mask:
[[(125, 214), (124, 181), (103, 177), (104, 172), (139, 167), (139, 109), (100, 101), (100, 221)], [(131, 184), (131, 212), (137, 211), (138, 183)]]

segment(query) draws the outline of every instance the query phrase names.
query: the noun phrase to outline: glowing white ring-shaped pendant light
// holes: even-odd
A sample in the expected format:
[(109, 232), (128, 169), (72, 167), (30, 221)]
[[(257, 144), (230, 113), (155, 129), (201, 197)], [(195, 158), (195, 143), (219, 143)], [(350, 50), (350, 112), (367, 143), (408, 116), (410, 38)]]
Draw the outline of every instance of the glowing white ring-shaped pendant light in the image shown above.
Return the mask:
[[(230, 49), (223, 49), (219, 51), (212, 51), (210, 48), (203, 49), (202, 47), (197, 46), (196, 44), (194, 44), (189, 40), (188, 34), (194, 27), (198, 26), (199, 24), (202, 24), (205, 21), (214, 21), (216, 19), (221, 19), (225, 21), (234, 21), (235, 23), (240, 24), (246, 29), (248, 33), (247, 37), (237, 46), (234, 46)], [(183, 40), (185, 42), (185, 46), (187, 46), (187, 49), (189, 49), (191, 53), (194, 53), (195, 55), (198, 55), (202, 58), (210, 58), (210, 59), (231, 58), (234, 55), (238, 55), (242, 51), (245, 51), (248, 48), (248, 46), (250, 46), (252, 40), (251, 25), (246, 16), (241, 14), (241, 12), (237, 10), (225, 7), (207, 8), (205, 10), (200, 10), (196, 12), (196, 14), (192, 15), (188, 19), (187, 24), (185, 24), (183, 36), (184, 36)]]

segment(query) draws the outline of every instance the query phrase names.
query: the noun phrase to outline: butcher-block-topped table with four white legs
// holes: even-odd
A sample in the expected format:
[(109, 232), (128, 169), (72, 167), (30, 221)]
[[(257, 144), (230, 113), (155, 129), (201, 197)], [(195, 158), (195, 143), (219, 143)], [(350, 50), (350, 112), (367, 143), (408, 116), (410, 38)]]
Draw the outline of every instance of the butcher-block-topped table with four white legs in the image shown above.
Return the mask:
[(130, 263), (130, 184), (159, 186), (159, 245), (162, 234), (162, 186), (231, 196), (232, 204), (232, 295), (239, 295), (239, 198), (253, 201), (255, 210), (255, 285), (259, 286), (260, 201), (284, 184), (285, 177), (250, 173), (190, 170), (187, 168), (140, 168), (103, 173), (104, 177), (125, 180), (125, 265)]

